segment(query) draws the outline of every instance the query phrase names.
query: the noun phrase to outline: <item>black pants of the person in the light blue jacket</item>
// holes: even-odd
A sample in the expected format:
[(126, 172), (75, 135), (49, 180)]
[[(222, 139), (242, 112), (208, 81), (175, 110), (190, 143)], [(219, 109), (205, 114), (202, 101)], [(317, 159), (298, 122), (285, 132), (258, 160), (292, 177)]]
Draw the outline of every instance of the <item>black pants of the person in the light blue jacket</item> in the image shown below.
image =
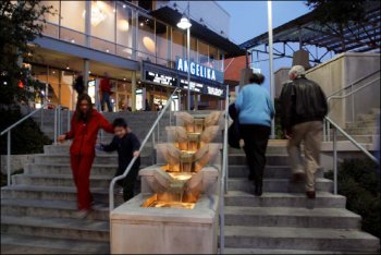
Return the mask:
[(262, 185), (263, 170), (266, 166), (266, 149), (271, 132), (270, 126), (241, 124), (241, 136), (244, 138), (244, 150), (246, 154), (246, 161), (254, 177), (256, 185)]

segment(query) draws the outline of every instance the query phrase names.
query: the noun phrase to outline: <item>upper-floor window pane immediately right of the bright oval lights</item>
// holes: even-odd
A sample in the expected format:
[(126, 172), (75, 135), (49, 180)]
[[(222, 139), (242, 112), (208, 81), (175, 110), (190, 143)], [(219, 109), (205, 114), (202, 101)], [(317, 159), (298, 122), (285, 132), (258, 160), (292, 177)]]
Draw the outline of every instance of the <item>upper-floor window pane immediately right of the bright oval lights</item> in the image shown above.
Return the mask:
[(165, 24), (156, 21), (156, 53), (157, 63), (168, 66), (169, 33)]

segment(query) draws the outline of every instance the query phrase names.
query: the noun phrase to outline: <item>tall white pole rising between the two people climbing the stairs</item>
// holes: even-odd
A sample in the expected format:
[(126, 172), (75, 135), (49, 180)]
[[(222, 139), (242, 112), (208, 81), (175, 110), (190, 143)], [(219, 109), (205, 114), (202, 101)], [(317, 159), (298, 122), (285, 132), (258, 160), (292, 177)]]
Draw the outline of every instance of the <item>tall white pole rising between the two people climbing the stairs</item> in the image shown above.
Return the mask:
[[(269, 60), (270, 60), (270, 96), (274, 104), (274, 70), (272, 52), (272, 2), (267, 1), (268, 28), (269, 28)], [(271, 138), (275, 138), (275, 119), (271, 121)]]

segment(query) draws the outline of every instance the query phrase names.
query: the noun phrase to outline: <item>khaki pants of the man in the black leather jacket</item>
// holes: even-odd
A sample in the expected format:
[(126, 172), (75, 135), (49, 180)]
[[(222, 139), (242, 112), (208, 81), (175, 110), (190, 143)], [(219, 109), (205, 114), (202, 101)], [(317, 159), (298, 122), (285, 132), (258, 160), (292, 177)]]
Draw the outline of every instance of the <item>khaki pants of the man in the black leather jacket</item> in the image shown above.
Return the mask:
[[(292, 127), (292, 138), (287, 151), (293, 174), (306, 173), (306, 191), (315, 191), (315, 173), (320, 163), (320, 146), (323, 124), (310, 121)], [(304, 142), (305, 160), (302, 158), (300, 144)]]

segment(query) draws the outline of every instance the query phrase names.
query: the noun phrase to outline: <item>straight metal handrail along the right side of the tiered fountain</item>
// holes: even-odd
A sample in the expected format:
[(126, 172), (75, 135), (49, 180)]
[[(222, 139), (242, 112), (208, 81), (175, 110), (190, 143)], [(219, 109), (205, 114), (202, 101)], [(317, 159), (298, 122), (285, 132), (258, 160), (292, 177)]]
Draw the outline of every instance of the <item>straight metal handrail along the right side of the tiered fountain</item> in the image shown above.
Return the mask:
[(225, 205), (224, 194), (228, 193), (228, 125), (229, 125), (229, 86), (226, 86), (225, 96), (225, 120), (223, 130), (223, 150), (222, 150), (222, 168), (221, 168), (221, 183), (220, 183), (220, 254), (224, 254), (225, 248)]

